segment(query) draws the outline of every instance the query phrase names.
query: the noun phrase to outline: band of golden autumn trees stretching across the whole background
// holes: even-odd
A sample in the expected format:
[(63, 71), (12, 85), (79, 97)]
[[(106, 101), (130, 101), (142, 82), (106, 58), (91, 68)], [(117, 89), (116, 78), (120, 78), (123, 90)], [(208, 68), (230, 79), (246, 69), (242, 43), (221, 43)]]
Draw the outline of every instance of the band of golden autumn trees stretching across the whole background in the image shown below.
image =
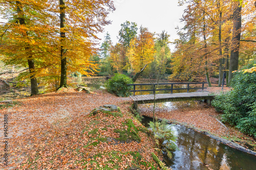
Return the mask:
[[(219, 78), (227, 83), (232, 72), (255, 60), (254, 1), (179, 1), (186, 6), (177, 28), (179, 39), (169, 41), (166, 31), (152, 33), (124, 21), (119, 42), (106, 33), (97, 48), (97, 33), (111, 23), (113, 1), (0, 1), (1, 73), (20, 72), (15, 81), (56, 90), (69, 77), (134, 76), (146, 64), (143, 78), (160, 72), (171, 81)], [(163, 28), (164, 29), (164, 28)], [(175, 44), (170, 52), (169, 44)], [(28, 69), (26, 69), (28, 68)], [(6, 81), (6, 80), (5, 80)]]

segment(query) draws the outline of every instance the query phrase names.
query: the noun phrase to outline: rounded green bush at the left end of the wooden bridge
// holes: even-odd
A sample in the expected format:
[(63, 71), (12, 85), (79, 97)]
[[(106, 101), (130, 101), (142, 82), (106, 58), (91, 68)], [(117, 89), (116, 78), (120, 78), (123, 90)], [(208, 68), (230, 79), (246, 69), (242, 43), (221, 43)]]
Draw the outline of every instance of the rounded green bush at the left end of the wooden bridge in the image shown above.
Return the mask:
[(105, 83), (105, 87), (110, 93), (114, 93), (117, 96), (127, 97), (131, 94), (130, 90), (132, 89), (132, 86), (127, 86), (127, 84), (133, 84), (131, 78), (125, 75), (116, 74)]

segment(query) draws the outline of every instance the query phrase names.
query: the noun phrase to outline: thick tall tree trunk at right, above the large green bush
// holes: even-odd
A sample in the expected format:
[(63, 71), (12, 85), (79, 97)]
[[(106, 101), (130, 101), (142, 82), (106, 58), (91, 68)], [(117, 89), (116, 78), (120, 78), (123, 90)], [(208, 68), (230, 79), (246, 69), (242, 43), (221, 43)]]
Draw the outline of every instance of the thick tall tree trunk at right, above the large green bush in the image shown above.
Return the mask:
[(241, 11), (242, 6), (240, 2), (236, 2), (236, 7), (233, 12), (233, 34), (232, 34), (232, 48), (230, 53), (229, 61), (229, 84), (230, 80), (233, 78), (232, 71), (238, 70), (238, 60), (239, 60), (239, 48), (240, 48), (240, 39), (241, 39)]

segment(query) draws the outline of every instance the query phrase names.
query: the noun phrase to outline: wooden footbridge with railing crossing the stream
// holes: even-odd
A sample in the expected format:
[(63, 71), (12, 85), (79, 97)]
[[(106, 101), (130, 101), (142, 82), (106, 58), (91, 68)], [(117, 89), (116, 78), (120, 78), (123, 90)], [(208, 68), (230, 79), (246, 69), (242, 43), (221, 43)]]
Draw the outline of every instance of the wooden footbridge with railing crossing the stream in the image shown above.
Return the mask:
[[(186, 88), (174, 88), (174, 85), (186, 85)], [(202, 87), (194, 87), (191, 88), (189, 85), (191, 84), (202, 84)], [(180, 101), (197, 101), (197, 100), (204, 100), (210, 101), (215, 98), (215, 95), (211, 95), (208, 92), (204, 92), (203, 90), (206, 88), (204, 84), (207, 84), (207, 82), (203, 83), (158, 83), (158, 84), (128, 84), (129, 86), (133, 86), (133, 90), (130, 90), (133, 92), (134, 95), (131, 95), (130, 98), (135, 103), (135, 108), (137, 108), (138, 104), (147, 104), (147, 103), (161, 103), (161, 102), (180, 102)], [(147, 90), (136, 90), (136, 86), (143, 86), (143, 85), (152, 85), (153, 89), (147, 89)], [(171, 85), (171, 88), (169, 89), (157, 89), (157, 85)], [(202, 89), (202, 92), (189, 92), (191, 89)], [(155, 94), (156, 91), (160, 90), (167, 90), (170, 93), (165, 94)], [(174, 90), (186, 90), (187, 92), (182, 93), (173, 93)], [(145, 95), (136, 95), (136, 92), (138, 91), (153, 91), (153, 94), (145, 94)]]

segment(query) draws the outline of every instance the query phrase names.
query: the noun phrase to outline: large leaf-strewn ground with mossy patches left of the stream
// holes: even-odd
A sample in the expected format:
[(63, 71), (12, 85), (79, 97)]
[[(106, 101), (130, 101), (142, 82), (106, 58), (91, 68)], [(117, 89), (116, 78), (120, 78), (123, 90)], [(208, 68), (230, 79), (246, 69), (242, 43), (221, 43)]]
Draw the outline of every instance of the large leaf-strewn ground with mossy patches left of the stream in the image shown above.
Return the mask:
[[(9, 165), (3, 165), (2, 145), (0, 167), (157, 169), (151, 156), (157, 154), (154, 139), (129, 112), (130, 101), (104, 91), (87, 94), (69, 89), (18, 102), (0, 110), (8, 114), (10, 138)], [(119, 106), (120, 111), (90, 113), (105, 104)]]

